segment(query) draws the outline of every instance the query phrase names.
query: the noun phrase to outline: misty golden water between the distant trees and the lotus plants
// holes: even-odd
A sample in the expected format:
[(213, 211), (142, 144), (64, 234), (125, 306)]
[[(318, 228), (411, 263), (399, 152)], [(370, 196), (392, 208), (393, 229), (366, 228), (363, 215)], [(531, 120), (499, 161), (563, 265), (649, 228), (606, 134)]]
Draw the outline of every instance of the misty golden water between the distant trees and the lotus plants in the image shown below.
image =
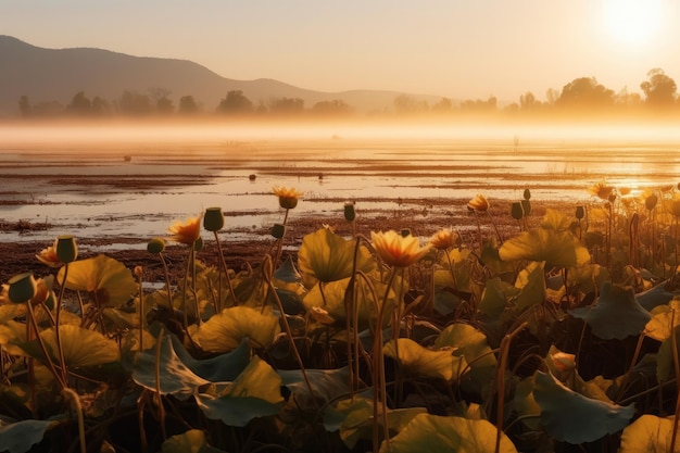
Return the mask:
[[(0, 125), (0, 222), (49, 222), (1, 240), (163, 236), (222, 206), (235, 238), (279, 221), (273, 186), (305, 193), (297, 215), (399, 215), (424, 199), (476, 193), (594, 202), (605, 179), (641, 192), (675, 185), (680, 128), (659, 124), (47, 123)], [(251, 175), (255, 178), (251, 179)]]

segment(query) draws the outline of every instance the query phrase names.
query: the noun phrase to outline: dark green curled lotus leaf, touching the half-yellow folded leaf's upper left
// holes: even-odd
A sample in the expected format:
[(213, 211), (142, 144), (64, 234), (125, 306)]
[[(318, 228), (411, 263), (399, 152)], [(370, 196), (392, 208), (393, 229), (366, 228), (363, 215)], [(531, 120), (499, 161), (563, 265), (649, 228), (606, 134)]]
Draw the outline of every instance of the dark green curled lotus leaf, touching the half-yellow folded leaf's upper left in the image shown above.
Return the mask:
[(155, 392), (158, 387), (158, 391), (161, 394), (174, 394), (179, 399), (189, 398), (200, 386), (210, 382), (193, 374), (179, 360), (173, 348), (173, 340), (168, 335), (163, 336), (160, 341), (158, 382), (155, 348), (137, 354), (137, 361), (133, 367), (133, 379), (135, 382), (152, 392)]

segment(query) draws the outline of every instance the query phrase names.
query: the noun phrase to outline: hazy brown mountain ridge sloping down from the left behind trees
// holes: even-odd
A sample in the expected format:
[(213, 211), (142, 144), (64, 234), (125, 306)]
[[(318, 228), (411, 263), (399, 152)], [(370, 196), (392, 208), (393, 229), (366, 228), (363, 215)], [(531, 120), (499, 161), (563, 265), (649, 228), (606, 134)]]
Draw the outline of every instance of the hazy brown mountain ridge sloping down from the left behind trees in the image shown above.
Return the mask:
[[(0, 115), (16, 115), (18, 99), (32, 103), (56, 101), (67, 105), (84, 91), (89, 99), (116, 100), (127, 91), (147, 95), (150, 88), (169, 90), (171, 98), (192, 96), (206, 112), (213, 112), (228, 91), (241, 90), (253, 103), (278, 98), (300, 98), (305, 108), (319, 101), (342, 100), (357, 112), (386, 111), (394, 105), (398, 91), (351, 90), (323, 92), (261, 78), (225, 78), (187, 60), (133, 56), (91, 48), (45, 49), (11, 36), (0, 35)], [(406, 93), (432, 104), (438, 96)]]

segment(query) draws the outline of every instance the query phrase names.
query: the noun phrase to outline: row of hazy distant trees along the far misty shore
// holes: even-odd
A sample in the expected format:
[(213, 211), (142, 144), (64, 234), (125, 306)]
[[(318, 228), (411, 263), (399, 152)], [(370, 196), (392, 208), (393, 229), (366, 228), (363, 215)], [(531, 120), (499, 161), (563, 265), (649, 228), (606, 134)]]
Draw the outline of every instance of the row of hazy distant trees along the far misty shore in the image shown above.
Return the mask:
[[(618, 92), (597, 83), (595, 77), (579, 77), (566, 84), (562, 90), (549, 89), (545, 100), (539, 100), (531, 91), (522, 93), (517, 102), (499, 106), (493, 96), (486, 100), (467, 99), (454, 102), (441, 98), (432, 104), (408, 95), (400, 95), (391, 109), (370, 112), (373, 115), (453, 115), (453, 114), (498, 114), (550, 115), (550, 114), (634, 114), (680, 113), (680, 96), (676, 81), (660, 68), (651, 70), (647, 78), (640, 84), (642, 93), (630, 92), (627, 88)], [(146, 93), (125, 90), (112, 101), (95, 97), (88, 98), (84, 91), (74, 95), (67, 105), (56, 101), (32, 103), (24, 95), (18, 100), (18, 111), (23, 117), (106, 117), (106, 116), (352, 116), (355, 109), (341, 99), (320, 101), (306, 108), (301, 98), (272, 98), (268, 101), (249, 99), (243, 91), (228, 91), (215, 109), (206, 110), (191, 95), (181, 96), (178, 103), (171, 98), (172, 91), (165, 88), (150, 88)]]

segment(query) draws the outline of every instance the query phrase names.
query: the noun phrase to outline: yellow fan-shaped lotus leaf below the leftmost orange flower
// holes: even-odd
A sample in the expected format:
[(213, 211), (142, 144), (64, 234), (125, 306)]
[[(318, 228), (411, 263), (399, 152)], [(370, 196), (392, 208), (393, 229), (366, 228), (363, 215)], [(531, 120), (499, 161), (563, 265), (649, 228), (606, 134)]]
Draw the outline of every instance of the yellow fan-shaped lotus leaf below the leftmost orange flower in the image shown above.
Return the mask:
[[(56, 281), (64, 280), (65, 267), (59, 270)], [(119, 306), (137, 292), (137, 284), (123, 263), (105, 255), (74, 261), (68, 264), (66, 288), (87, 291), (98, 305)]]

